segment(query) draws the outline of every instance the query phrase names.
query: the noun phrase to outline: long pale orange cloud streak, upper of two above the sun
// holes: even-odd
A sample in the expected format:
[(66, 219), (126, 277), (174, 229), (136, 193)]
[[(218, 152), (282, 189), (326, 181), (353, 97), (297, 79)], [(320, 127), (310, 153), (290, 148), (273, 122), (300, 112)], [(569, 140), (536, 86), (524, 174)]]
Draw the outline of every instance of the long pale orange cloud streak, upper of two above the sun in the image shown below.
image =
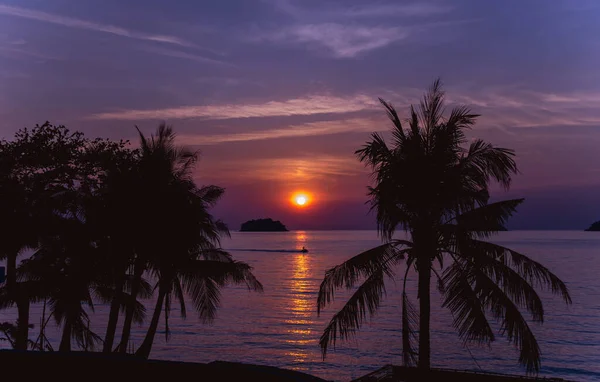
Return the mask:
[(366, 95), (353, 97), (309, 96), (286, 101), (261, 104), (227, 104), (209, 106), (182, 106), (155, 110), (123, 110), (98, 113), (89, 117), (96, 120), (148, 120), (203, 118), (207, 120), (351, 113), (379, 106), (377, 99)]

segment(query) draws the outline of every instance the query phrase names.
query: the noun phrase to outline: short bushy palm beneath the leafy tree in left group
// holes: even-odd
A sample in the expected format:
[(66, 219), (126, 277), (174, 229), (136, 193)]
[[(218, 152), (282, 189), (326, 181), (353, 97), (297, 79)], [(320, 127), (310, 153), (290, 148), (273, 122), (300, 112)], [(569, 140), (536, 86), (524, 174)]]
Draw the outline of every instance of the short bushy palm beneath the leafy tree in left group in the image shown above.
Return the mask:
[[(95, 227), (85, 220), (84, 212), (63, 216), (59, 225), (60, 234), (43, 237), (39, 249), (21, 263), (17, 274), (28, 289), (30, 302), (47, 301), (50, 315), (62, 326), (59, 350), (70, 351), (72, 339), (80, 348), (93, 350), (101, 341), (89, 329), (88, 311), (94, 311), (94, 300), (108, 302), (119, 296), (124, 307), (130, 296), (114, 289), (105, 243), (97, 240)], [(150, 286), (142, 286), (149, 295)], [(141, 323), (145, 309), (137, 301), (134, 306), (135, 318)]]

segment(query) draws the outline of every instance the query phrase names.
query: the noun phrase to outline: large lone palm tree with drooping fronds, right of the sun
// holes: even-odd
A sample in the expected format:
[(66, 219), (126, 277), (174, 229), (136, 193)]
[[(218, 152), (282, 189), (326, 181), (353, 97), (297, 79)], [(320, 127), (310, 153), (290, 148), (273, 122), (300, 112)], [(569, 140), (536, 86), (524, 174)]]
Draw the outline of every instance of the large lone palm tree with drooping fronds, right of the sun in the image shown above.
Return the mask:
[[(520, 350), (519, 362), (537, 371), (539, 345), (520, 309), (542, 322), (544, 309), (534, 287), (549, 289), (571, 302), (565, 284), (540, 263), (482, 239), (504, 229), (507, 219), (523, 199), (489, 203), (489, 184), (506, 189), (517, 172), (512, 150), (480, 139), (466, 146), (465, 130), (478, 115), (459, 106), (443, 117), (444, 93), (439, 80), (423, 97), (417, 110), (410, 108), (409, 128), (404, 129), (391, 104), (380, 99), (393, 123), (393, 146), (374, 133), (358, 150), (361, 162), (373, 171), (369, 187), (372, 210), (384, 243), (338, 265), (325, 274), (319, 290), (320, 313), (340, 287), (358, 286), (345, 306), (327, 325), (320, 345), (325, 356), (330, 344), (360, 328), (367, 312), (372, 315), (385, 293), (385, 278), (394, 277), (404, 263), (402, 291), (402, 343), (406, 365), (430, 367), (430, 285), (438, 279), (443, 306), (454, 317), (453, 325), (465, 342), (491, 343), (495, 334), (489, 318), (500, 323)], [(410, 240), (395, 239), (397, 229)], [(440, 275), (434, 265), (439, 263)], [(443, 267), (450, 262), (449, 266)], [(406, 292), (408, 272), (418, 273), (418, 313)], [(413, 344), (418, 321), (418, 352)]]

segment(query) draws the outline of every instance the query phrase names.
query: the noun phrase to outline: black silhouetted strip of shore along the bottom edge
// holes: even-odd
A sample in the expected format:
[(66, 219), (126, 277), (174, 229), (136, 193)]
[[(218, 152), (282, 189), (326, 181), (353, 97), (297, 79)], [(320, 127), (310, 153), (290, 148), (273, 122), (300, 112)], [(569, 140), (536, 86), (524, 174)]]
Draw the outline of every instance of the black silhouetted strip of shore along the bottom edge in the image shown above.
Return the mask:
[[(82, 381), (265, 381), (265, 382), (326, 382), (299, 371), (241, 362), (213, 361), (193, 363), (144, 360), (133, 355), (97, 352), (39, 352), (0, 350), (2, 374), (19, 376), (20, 381), (52, 380)], [(15, 378), (13, 378), (15, 379)], [(15, 379), (16, 380), (16, 379)], [(460, 381), (515, 382), (564, 381), (561, 378), (522, 377), (466, 370), (432, 369), (423, 373), (416, 368), (385, 366), (355, 379), (353, 382), (395, 381)]]

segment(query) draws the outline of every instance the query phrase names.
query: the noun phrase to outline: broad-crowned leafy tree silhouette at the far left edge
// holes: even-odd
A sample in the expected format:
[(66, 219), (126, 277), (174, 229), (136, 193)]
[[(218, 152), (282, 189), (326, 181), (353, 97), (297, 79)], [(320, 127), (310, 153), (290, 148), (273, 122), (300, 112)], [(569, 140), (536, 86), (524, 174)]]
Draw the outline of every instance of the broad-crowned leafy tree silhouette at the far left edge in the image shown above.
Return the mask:
[(6, 227), (0, 233), (0, 258), (7, 259), (3, 304), (17, 305), (15, 348), (27, 348), (29, 303), (36, 298), (30, 296), (31, 283), (17, 282), (17, 256), (62, 233), (58, 228), (79, 203), (77, 195), (96, 192), (107, 168), (132, 157), (126, 145), (89, 140), (48, 122), (0, 141), (0, 216)]

